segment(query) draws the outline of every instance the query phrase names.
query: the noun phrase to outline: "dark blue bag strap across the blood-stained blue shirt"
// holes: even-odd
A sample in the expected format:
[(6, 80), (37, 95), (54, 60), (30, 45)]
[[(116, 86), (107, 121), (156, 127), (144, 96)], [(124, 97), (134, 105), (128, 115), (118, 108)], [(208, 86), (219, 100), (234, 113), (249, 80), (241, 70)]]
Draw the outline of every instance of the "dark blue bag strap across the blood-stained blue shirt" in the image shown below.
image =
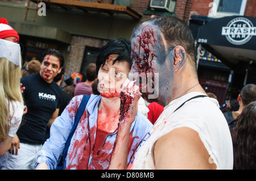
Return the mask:
[(72, 126), (71, 132), (69, 133), (68, 139), (65, 143), (65, 148), (63, 150), (63, 153), (60, 155), (59, 161), (57, 162), (56, 169), (63, 169), (62, 167), (64, 166), (64, 161), (65, 161), (65, 158), (67, 157), (68, 148), (69, 148), (69, 145), (70, 145), (70, 142), (71, 142), (71, 138), (72, 138), (73, 134), (76, 131), (77, 125), (79, 124), (79, 121), (82, 117), (82, 114), (84, 113), (84, 110), (85, 110), (86, 104), (88, 103), (89, 98), (90, 98), (89, 95), (84, 95), (82, 97), (81, 103), (80, 103), (79, 108), (76, 112), (74, 124)]

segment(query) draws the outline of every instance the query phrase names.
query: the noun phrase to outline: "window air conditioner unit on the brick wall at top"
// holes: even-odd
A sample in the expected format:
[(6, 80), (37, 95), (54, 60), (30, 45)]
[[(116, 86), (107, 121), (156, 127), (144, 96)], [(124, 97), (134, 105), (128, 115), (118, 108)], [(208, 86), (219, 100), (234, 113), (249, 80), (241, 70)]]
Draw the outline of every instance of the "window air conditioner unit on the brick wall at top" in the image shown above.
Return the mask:
[(151, 0), (150, 7), (155, 10), (174, 12), (176, 1), (172, 0)]

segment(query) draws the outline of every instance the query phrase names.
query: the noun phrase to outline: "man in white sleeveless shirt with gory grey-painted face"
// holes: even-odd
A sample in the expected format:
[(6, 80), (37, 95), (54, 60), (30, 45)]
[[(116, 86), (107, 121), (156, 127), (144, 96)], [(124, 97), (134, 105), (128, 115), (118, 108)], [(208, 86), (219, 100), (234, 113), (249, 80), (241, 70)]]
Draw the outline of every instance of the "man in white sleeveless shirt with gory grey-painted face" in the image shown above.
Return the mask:
[[(131, 36), (131, 56), (129, 77), (138, 80), (148, 102), (158, 102), (164, 111), (128, 169), (232, 169), (228, 124), (217, 100), (199, 84), (195, 44), (185, 23), (172, 16), (142, 22)], [(126, 169), (127, 142), (122, 136), (133, 121), (133, 110), (136, 103), (130, 118), (120, 124), (110, 169)]]

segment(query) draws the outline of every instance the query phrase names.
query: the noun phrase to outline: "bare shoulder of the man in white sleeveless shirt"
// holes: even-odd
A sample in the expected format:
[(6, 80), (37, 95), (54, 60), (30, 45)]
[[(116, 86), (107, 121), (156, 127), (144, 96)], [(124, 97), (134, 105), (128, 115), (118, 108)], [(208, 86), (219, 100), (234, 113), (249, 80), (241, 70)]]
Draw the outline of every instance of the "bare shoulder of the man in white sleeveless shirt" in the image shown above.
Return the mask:
[(199, 134), (191, 128), (176, 128), (155, 144), (156, 169), (216, 169)]

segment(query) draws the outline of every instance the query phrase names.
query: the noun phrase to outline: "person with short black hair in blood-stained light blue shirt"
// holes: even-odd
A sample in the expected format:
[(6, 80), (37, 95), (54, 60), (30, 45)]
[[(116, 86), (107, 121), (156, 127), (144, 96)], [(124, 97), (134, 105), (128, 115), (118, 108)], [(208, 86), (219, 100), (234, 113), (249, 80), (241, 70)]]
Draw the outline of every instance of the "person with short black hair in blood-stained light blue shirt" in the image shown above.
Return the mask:
[[(72, 136), (63, 163), (64, 169), (108, 169), (121, 117), (121, 86), (129, 81), (127, 76), (132, 64), (130, 53), (130, 42), (126, 39), (109, 41), (101, 48), (96, 60), (100, 95), (90, 95)], [(83, 95), (75, 96), (52, 124), (50, 138), (43, 145), (36, 169), (56, 168), (82, 98)], [(151, 128), (150, 121), (142, 113), (136, 112), (135, 121), (127, 132), (126, 166)]]

